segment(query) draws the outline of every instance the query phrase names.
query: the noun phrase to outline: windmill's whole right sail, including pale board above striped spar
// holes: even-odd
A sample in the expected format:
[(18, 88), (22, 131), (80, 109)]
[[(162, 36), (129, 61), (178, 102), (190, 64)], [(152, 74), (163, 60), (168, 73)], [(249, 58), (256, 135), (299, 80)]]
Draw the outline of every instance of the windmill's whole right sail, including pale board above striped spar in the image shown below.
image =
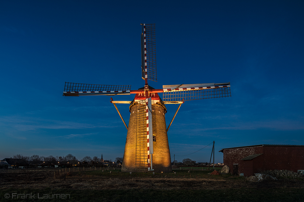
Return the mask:
[(230, 83), (163, 85), (163, 101), (231, 97)]

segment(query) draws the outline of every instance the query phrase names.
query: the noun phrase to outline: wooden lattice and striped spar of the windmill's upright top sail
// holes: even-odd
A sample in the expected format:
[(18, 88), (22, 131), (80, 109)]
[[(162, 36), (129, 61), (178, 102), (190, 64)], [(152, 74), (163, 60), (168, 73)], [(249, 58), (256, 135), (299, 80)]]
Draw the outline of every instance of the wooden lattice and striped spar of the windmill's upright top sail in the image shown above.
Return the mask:
[(147, 67), (147, 78), (151, 81), (157, 81), (155, 24), (144, 24), (143, 36), (145, 46), (145, 65)]

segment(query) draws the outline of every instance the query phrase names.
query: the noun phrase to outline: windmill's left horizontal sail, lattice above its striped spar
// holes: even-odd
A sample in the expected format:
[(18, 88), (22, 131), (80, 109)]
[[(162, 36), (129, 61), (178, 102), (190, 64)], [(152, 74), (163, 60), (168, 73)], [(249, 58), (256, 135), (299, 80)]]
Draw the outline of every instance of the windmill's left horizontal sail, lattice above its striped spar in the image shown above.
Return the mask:
[(100, 85), (65, 82), (64, 96), (130, 94), (131, 85)]

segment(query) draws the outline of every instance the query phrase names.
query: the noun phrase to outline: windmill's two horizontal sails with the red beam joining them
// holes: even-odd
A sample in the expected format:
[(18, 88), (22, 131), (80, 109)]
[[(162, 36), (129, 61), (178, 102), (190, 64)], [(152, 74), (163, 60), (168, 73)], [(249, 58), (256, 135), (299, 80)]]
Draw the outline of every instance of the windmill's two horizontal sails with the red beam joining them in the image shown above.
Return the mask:
[(130, 90), (130, 88), (131, 85), (99, 85), (66, 82), (63, 95), (146, 95), (147, 92), (147, 97), (152, 97), (153, 102), (156, 93), (163, 93), (163, 101), (165, 104), (176, 103), (178, 101), (231, 97), (230, 83), (164, 85), (163, 89), (149, 89), (146, 91), (145, 89)]

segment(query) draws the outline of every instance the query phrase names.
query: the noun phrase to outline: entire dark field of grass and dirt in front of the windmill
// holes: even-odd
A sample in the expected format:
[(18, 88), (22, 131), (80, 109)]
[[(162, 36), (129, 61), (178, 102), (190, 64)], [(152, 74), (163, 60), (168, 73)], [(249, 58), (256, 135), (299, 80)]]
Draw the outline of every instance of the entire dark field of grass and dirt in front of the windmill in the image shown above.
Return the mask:
[(57, 171), (0, 171), (0, 201), (304, 201), (301, 179), (249, 182), (195, 170), (154, 175)]

